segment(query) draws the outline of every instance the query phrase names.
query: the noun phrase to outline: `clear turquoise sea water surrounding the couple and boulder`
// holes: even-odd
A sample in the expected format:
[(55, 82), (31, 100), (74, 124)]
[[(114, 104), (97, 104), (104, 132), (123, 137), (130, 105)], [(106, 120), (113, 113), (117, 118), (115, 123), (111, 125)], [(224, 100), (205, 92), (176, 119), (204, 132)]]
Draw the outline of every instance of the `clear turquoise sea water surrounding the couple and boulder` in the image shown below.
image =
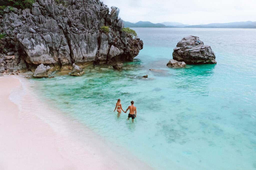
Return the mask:
[[(33, 80), (38, 94), (154, 169), (256, 169), (256, 29), (134, 29), (144, 49), (122, 71), (56, 73)], [(166, 67), (188, 35), (211, 45), (216, 65)], [(118, 98), (123, 109), (135, 101), (134, 123), (113, 112)]]

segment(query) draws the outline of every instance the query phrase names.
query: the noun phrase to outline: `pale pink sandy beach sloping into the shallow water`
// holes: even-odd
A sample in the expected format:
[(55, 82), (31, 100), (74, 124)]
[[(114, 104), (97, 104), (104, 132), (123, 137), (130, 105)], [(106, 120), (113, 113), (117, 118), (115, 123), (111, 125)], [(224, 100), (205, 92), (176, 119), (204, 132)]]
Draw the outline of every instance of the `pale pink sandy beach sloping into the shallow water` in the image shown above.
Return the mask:
[(39, 101), (29, 83), (0, 77), (0, 169), (152, 169)]

